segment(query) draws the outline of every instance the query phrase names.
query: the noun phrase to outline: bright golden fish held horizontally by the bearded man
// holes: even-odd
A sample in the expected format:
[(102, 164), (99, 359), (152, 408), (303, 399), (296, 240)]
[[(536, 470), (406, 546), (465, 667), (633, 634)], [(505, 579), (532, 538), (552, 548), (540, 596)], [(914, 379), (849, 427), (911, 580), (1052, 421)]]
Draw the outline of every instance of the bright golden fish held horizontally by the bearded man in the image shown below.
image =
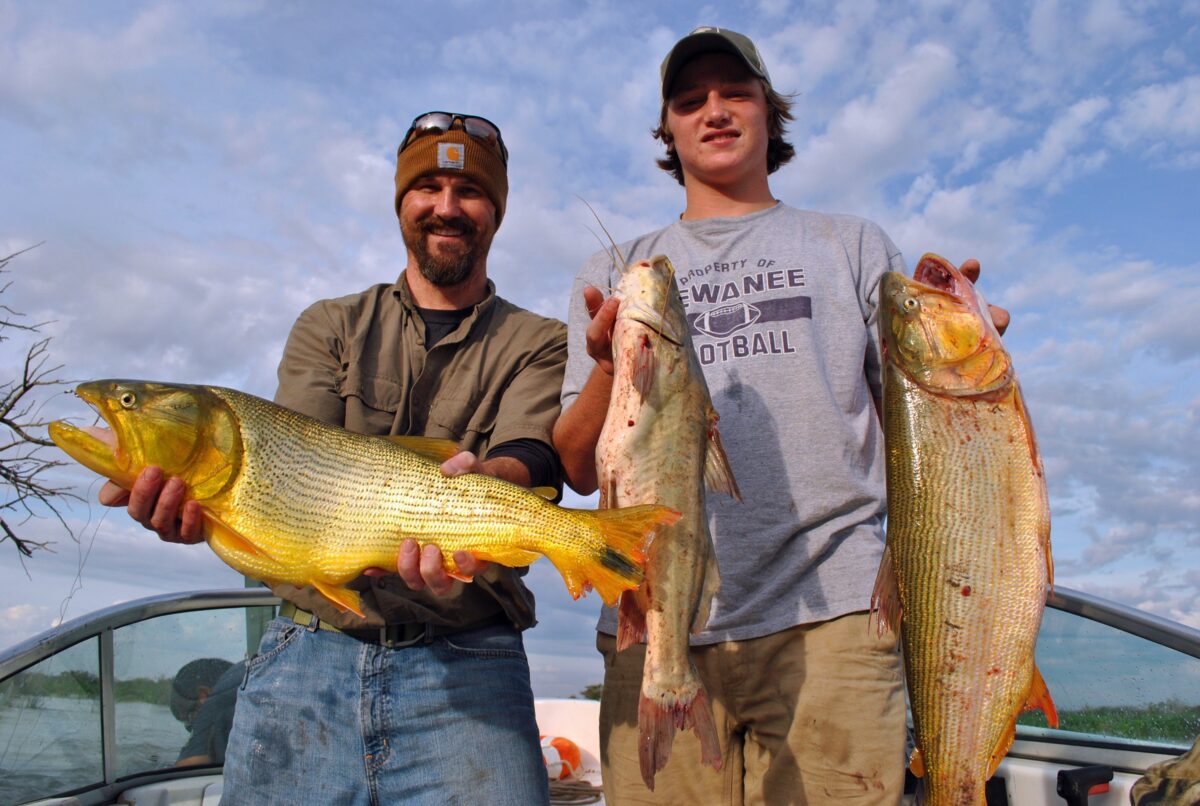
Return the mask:
[(545, 555), (572, 596), (594, 588), (612, 604), (641, 583), (655, 527), (679, 519), (664, 506), (566, 510), (492, 476), (446, 477), (448, 440), (355, 434), (232, 389), (97, 380), (76, 393), (112, 432), (50, 423), (72, 458), (126, 488), (148, 465), (179, 476), (228, 565), (312, 585), (360, 616), (346, 584), (394, 569), (406, 537), (438, 546), (451, 575), (456, 551), (510, 566)]

